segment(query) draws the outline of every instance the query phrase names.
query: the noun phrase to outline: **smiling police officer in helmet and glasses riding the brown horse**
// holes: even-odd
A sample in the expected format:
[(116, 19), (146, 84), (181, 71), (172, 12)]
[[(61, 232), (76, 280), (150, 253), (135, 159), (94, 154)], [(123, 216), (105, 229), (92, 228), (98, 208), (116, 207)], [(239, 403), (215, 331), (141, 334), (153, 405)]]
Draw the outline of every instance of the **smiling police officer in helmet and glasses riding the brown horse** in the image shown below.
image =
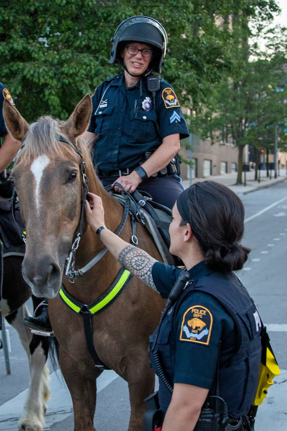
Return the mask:
[(83, 137), (97, 137), (94, 163), (104, 186), (117, 181), (130, 192), (137, 187), (171, 209), (183, 190), (176, 175), (179, 140), (189, 132), (173, 87), (151, 75), (160, 73), (167, 33), (155, 19), (133, 16), (111, 41), (110, 63), (120, 63), (124, 71), (94, 91)]

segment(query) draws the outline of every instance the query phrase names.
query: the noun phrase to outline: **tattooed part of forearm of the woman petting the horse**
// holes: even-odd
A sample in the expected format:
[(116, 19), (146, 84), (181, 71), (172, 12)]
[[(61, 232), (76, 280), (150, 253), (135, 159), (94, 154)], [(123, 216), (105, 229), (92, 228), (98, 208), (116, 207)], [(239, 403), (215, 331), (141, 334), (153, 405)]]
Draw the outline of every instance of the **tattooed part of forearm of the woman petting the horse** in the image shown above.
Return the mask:
[(148, 287), (157, 291), (151, 276), (151, 268), (156, 259), (149, 256), (145, 251), (128, 245), (119, 254), (119, 262), (125, 269), (140, 278)]

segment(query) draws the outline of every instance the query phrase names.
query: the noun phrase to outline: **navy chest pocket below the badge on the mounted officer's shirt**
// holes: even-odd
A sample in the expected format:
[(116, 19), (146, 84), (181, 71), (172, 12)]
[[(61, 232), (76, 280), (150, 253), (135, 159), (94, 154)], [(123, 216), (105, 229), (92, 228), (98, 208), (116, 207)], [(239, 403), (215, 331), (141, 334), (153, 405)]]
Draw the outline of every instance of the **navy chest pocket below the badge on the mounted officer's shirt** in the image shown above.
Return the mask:
[(158, 138), (155, 123), (157, 114), (154, 109), (144, 111), (139, 109), (136, 114), (132, 109), (130, 112), (130, 135), (133, 142), (152, 142)]

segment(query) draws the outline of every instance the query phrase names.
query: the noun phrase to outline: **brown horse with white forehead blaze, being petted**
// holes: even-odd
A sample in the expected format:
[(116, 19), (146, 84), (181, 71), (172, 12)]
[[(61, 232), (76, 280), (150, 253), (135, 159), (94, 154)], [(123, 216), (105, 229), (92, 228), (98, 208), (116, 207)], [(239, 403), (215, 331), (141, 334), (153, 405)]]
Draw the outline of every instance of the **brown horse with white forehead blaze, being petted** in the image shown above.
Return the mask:
[[(91, 109), (91, 99), (86, 95), (66, 123), (43, 117), (30, 127), (11, 103), (5, 103), (3, 109), (9, 132), (16, 139), (25, 140), (12, 174), (27, 231), (22, 272), (34, 295), (50, 298), (49, 317), (60, 344), (59, 360), (73, 400), (77, 431), (94, 430), (96, 378), (101, 371), (95, 368), (87, 350), (81, 316), (62, 302), (59, 289), (63, 282), (72, 297), (89, 304), (108, 289), (121, 269), (120, 263), (107, 252), (74, 284), (63, 277), (65, 260), (80, 219), (82, 178), (80, 156), (58, 140), (59, 134), (68, 137), (82, 151), (89, 191), (102, 197), (107, 227), (116, 231), (123, 215), (123, 207), (106, 193), (97, 179), (89, 148), (79, 138), (89, 125)], [(120, 237), (130, 241), (131, 236), (128, 218)], [(143, 225), (137, 226), (137, 237), (139, 247), (161, 260)], [(86, 265), (102, 248), (102, 242), (85, 222), (75, 266)], [(159, 322), (163, 306), (159, 294), (133, 277), (108, 308), (93, 316), (93, 340), (99, 358), (129, 385), (129, 431), (142, 430), (144, 398), (154, 389), (154, 373), (148, 362), (148, 336)]]

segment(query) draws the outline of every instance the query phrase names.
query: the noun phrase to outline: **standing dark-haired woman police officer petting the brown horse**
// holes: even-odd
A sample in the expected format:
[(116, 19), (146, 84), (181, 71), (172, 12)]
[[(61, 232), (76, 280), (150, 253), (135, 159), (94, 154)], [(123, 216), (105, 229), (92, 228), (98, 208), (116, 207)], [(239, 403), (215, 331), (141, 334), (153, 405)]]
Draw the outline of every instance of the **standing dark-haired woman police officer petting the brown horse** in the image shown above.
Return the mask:
[[(90, 194), (90, 205), (86, 202), (87, 220), (105, 247), (124, 268), (169, 297), (150, 343), (165, 412), (162, 430), (253, 429), (248, 412), (259, 381), (262, 323), (232, 272), (242, 269), (250, 252), (238, 244), (244, 233), (239, 197), (228, 187), (204, 181), (177, 198), (170, 253), (182, 259), (182, 271), (105, 228), (100, 197)], [(217, 420), (220, 427), (212, 425)]]

